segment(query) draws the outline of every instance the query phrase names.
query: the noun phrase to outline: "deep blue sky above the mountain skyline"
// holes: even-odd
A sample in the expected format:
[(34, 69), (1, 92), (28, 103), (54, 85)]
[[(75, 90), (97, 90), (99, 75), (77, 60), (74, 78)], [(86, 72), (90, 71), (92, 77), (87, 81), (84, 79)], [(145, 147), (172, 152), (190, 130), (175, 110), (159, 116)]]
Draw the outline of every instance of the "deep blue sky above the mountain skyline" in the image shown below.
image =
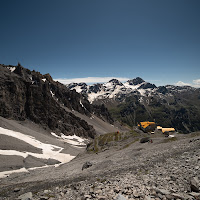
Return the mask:
[(199, 0), (1, 0), (0, 8), (2, 64), (54, 79), (200, 85)]

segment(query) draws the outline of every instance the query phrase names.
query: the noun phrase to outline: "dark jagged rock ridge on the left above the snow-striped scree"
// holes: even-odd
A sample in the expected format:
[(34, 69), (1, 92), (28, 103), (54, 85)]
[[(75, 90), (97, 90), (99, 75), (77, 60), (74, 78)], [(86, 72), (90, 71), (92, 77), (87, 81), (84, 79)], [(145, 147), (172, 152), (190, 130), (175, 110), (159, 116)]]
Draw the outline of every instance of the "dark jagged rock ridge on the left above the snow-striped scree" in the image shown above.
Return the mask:
[(65, 108), (113, 122), (104, 105), (91, 105), (82, 94), (53, 81), (49, 74), (30, 71), (20, 64), (0, 65), (0, 116), (29, 119), (58, 134), (93, 138), (94, 128)]

